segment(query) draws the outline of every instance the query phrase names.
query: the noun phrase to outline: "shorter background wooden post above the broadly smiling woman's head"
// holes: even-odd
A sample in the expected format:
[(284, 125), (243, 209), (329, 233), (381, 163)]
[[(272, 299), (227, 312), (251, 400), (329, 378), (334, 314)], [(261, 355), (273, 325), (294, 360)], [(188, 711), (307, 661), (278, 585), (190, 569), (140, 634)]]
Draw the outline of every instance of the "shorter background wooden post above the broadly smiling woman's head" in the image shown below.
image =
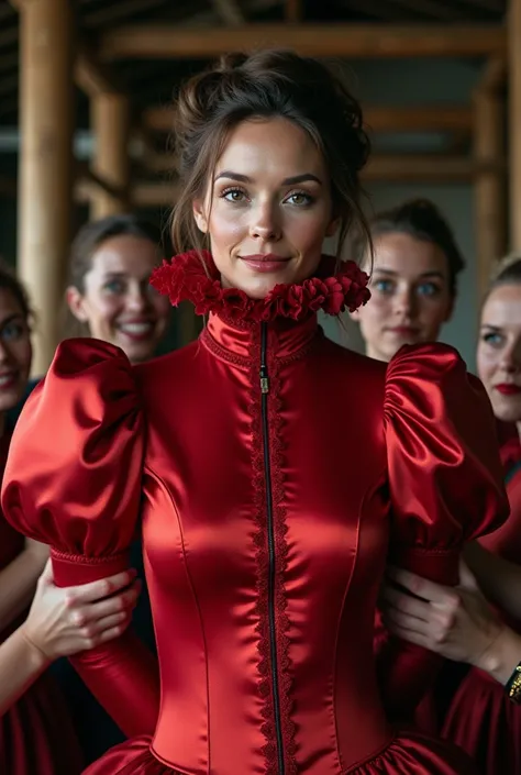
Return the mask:
[(114, 196), (98, 188), (90, 200), (91, 219), (129, 210), (130, 190), (130, 104), (129, 98), (101, 92), (91, 98), (91, 129), (96, 137), (92, 170), (112, 188)]

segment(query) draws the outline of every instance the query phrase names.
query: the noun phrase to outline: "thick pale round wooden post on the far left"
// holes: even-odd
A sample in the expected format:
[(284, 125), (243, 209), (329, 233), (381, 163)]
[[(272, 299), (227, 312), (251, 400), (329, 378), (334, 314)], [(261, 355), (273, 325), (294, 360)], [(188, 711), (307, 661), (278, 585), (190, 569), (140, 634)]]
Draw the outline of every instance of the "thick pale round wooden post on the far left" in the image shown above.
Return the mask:
[(69, 0), (31, 0), (20, 16), (19, 274), (37, 312), (33, 373), (59, 339), (73, 202)]

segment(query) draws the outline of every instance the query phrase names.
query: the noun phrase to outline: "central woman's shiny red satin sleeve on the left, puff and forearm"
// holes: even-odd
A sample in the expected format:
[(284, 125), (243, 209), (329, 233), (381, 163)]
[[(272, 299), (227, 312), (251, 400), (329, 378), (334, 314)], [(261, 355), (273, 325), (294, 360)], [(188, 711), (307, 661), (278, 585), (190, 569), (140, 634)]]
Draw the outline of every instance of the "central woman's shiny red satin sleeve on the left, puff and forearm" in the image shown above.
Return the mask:
[[(129, 567), (143, 452), (125, 355), (96, 340), (64, 342), (16, 424), (2, 486), (9, 522), (51, 544), (58, 586)], [(131, 630), (71, 662), (125, 734), (154, 731), (156, 661)]]

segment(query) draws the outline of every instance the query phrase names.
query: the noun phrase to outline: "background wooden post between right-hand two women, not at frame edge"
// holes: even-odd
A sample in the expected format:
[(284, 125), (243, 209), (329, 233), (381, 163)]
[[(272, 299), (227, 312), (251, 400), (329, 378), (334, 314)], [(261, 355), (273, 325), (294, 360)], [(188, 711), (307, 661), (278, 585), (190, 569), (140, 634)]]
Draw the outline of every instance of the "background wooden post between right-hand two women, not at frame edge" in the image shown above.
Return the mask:
[(499, 89), (478, 88), (474, 95), (474, 156), (477, 164), (484, 165), (474, 188), (478, 297), (481, 299), (492, 265), (507, 248), (507, 186), (500, 166), (505, 156), (505, 107)]

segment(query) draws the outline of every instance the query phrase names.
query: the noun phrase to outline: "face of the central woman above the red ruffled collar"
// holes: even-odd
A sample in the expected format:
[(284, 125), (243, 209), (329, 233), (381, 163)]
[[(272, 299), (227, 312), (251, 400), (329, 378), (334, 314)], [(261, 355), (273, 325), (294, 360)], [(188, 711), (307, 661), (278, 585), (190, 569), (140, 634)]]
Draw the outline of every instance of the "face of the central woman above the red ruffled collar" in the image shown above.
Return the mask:
[(232, 131), (193, 213), (223, 285), (255, 299), (311, 277), (336, 229), (322, 154), (286, 119), (244, 121)]

